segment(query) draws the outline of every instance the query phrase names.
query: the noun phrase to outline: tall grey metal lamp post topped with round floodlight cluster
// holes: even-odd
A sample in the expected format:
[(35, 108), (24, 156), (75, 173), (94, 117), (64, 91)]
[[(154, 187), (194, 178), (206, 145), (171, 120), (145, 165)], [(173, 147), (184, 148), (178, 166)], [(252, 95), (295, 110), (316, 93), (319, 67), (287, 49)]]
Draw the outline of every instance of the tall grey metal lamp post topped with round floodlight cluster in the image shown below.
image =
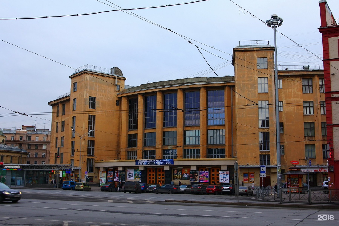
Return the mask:
[(281, 156), (280, 156), (280, 120), (279, 120), (279, 93), (278, 93), (278, 61), (277, 61), (277, 36), (276, 28), (282, 25), (284, 20), (273, 14), (271, 19), (266, 20), (266, 25), (274, 28), (274, 57), (275, 57), (275, 106), (276, 106), (276, 136), (277, 136), (277, 183), (278, 196), (280, 196), (281, 189)]

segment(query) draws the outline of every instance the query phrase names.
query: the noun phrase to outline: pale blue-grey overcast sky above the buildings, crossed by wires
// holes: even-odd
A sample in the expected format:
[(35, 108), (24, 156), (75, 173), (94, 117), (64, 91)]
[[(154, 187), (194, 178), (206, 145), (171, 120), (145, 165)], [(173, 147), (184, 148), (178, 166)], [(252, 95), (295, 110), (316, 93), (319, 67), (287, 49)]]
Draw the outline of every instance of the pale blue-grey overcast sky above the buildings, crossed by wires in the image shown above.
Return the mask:
[[(0, 18), (74, 15), (183, 2), (186, 1), (1, 0)], [(279, 32), (314, 54), (277, 33), (278, 65), (322, 65), (318, 1), (278, 2), (208, 0), (138, 9), (130, 11), (132, 15), (117, 11), (0, 20), (0, 128), (36, 125), (51, 129), (52, 107), (47, 103), (68, 93), (69, 76), (75, 68), (86, 64), (103, 68), (117, 66), (127, 78), (125, 84), (132, 86), (189, 77), (216, 77), (198, 46), (218, 76), (234, 76), (232, 49), (239, 41), (270, 40), (274, 45), (273, 29), (262, 22), (272, 14), (284, 20), (277, 28)], [(339, 1), (327, 0), (327, 3), (334, 18), (339, 18)]]

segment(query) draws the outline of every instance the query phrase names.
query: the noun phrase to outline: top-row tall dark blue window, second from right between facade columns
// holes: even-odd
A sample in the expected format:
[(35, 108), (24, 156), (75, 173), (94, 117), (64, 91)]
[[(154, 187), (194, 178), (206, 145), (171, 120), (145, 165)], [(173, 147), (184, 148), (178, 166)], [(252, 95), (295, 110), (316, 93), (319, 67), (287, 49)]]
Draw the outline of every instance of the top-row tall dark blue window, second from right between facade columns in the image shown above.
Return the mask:
[(200, 92), (185, 92), (185, 126), (200, 125)]

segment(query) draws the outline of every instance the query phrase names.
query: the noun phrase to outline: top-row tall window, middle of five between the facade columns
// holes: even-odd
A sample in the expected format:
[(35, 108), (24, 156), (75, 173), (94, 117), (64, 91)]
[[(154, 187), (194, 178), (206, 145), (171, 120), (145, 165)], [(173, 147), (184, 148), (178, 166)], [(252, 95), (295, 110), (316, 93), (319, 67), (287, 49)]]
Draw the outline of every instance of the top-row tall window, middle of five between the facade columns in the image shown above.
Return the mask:
[(177, 126), (177, 94), (164, 95), (164, 127)]

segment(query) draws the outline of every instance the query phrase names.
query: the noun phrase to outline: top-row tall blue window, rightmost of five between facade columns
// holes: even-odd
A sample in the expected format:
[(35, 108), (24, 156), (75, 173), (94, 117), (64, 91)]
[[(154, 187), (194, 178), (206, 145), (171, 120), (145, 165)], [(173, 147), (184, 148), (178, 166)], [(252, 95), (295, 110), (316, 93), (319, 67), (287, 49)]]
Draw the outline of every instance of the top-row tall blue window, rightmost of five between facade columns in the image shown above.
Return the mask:
[(224, 125), (225, 124), (225, 91), (224, 90), (207, 91), (207, 117), (208, 117), (207, 118), (208, 125)]

